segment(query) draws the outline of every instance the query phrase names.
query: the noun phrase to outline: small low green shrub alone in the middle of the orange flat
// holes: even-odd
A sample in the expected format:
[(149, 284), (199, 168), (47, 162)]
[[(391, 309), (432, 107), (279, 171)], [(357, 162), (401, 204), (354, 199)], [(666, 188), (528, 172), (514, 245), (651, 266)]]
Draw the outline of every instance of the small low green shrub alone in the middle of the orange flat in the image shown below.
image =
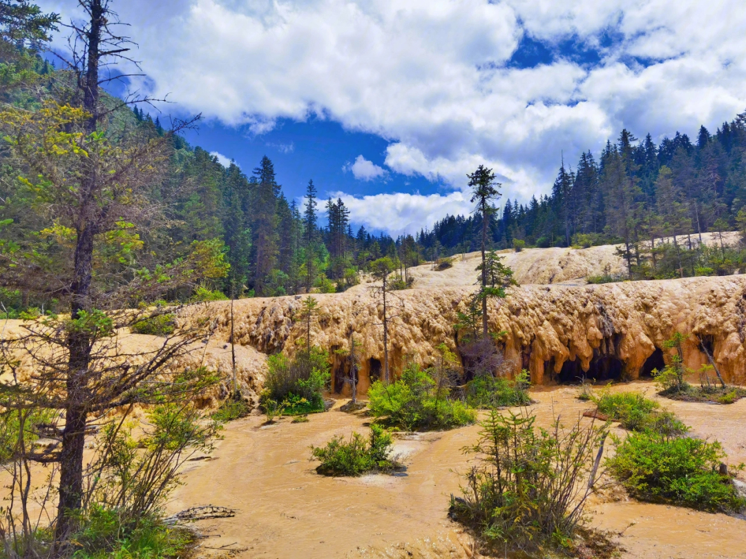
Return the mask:
[[(311, 446), (313, 458), (321, 461), (316, 468), (326, 476), (360, 476), (366, 472), (390, 472), (399, 467), (391, 458), (391, 435), (380, 425), (371, 426), (369, 441), (360, 433), (352, 433), (349, 442), (342, 435), (330, 440), (326, 446)], [(312, 458), (312, 460), (313, 460)]]

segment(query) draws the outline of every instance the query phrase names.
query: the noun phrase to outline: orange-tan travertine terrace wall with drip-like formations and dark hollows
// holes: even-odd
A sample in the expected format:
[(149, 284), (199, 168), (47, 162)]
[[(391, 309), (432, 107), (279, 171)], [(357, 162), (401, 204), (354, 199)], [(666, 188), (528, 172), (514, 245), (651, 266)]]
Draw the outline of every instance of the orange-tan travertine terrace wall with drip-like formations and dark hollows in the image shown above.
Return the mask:
[[(711, 353), (723, 376), (746, 381), (746, 277), (698, 277), (584, 285), (604, 268), (622, 270), (614, 247), (529, 249), (505, 253), (521, 286), (505, 300), (490, 303), (489, 321), (504, 330), (501, 346), (513, 373), (530, 370), (535, 384), (581, 376), (636, 379), (662, 367), (663, 341), (674, 331), (690, 334), (686, 365), (698, 370)], [(401, 371), (407, 359), (428, 364), (436, 347), (456, 347), (453, 325), (474, 292), (478, 254), (457, 256), (453, 268), (410, 269), (415, 288), (392, 294), (389, 359)], [(363, 282), (342, 294), (315, 294), (321, 313), (312, 326), (312, 343), (333, 351), (348, 347), (350, 332), (362, 344), (358, 390), (364, 394), (383, 361), (382, 306)], [(301, 296), (246, 299), (234, 305), (236, 343), (255, 350), (257, 359), (292, 353), (305, 336), (298, 318)], [(228, 340), (230, 303), (212, 303), (207, 312), (218, 323), (216, 338)], [(204, 311), (200, 311), (204, 312)], [(335, 359), (335, 391), (346, 391), (345, 363)], [(248, 387), (257, 388), (260, 366), (252, 367)]]

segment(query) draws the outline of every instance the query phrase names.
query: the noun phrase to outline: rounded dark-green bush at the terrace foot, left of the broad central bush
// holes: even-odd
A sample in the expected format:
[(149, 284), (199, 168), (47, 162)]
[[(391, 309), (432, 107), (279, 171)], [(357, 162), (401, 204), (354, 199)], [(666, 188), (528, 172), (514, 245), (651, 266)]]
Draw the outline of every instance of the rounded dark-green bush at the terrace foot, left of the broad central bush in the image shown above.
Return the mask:
[(288, 415), (325, 410), (322, 391), (331, 375), (329, 356), (324, 350), (319, 347), (301, 350), (293, 359), (278, 353), (269, 356), (267, 364), (269, 371), (260, 396), (265, 410), (270, 401)]

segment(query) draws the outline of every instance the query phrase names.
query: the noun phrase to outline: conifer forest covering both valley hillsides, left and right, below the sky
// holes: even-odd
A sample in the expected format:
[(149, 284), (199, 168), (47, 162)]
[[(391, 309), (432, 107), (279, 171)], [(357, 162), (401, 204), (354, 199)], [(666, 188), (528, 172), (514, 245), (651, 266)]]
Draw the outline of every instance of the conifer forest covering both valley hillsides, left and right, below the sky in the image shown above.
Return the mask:
[[(38, 110), (45, 99), (64, 100), (75, 79), (26, 48), (5, 47), (2, 57), (2, 101), (13, 107)], [(163, 211), (144, 229), (135, 230), (122, 217), (116, 231), (107, 233), (99, 257), (107, 259), (112, 273), (135, 276), (164, 262), (184, 262), (198, 248), (203, 256), (219, 257), (225, 268), (175, 287), (166, 297), (184, 300), (195, 291), (202, 297), (342, 291), (381, 256), (391, 256), (404, 277), (406, 268), (424, 260), (479, 246), (478, 216), (448, 216), (398, 239), (355, 230), (345, 203), (320, 200), (323, 186), (313, 180), (299, 205), (283, 194), (269, 158), (251, 171), (233, 163), (225, 168), (204, 149), (164, 130), (143, 110), (148, 104), (101, 95), (110, 107), (108, 134), (165, 141), (149, 162), (157, 172), (147, 185), (148, 198)], [(72, 237), (51, 205), (40, 211), (45, 202), (32, 195), (38, 186), (19, 179), (25, 170), (11, 157), (12, 142), (7, 139), (0, 151), (0, 281), (3, 304), (17, 311), (48, 307), (64, 297), (60, 271), (70, 261)], [(695, 142), (677, 133), (655, 145), (650, 134), (639, 141), (622, 130), (598, 156), (583, 153), (574, 167), (563, 162), (551, 195), (501, 203), (489, 224), (492, 248), (618, 243), (627, 276), (635, 279), (732, 274), (743, 265), (742, 250), (724, 243), (708, 248), (699, 241), (703, 232), (746, 230), (745, 148), (746, 113), (714, 134), (701, 127)], [(21, 276), (25, 289), (18, 290)], [(611, 279), (620, 278), (599, 280)]]

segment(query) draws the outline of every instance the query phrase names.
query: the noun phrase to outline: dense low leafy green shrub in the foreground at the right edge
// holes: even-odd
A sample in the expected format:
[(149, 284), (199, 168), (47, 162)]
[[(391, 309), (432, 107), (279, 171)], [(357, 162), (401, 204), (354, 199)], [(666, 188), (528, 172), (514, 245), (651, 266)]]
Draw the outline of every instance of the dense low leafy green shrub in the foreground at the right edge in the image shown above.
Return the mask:
[(616, 453), (606, 465), (638, 499), (706, 511), (741, 511), (746, 505), (730, 476), (718, 473), (726, 455), (717, 441), (668, 437), (647, 430), (616, 443)]

